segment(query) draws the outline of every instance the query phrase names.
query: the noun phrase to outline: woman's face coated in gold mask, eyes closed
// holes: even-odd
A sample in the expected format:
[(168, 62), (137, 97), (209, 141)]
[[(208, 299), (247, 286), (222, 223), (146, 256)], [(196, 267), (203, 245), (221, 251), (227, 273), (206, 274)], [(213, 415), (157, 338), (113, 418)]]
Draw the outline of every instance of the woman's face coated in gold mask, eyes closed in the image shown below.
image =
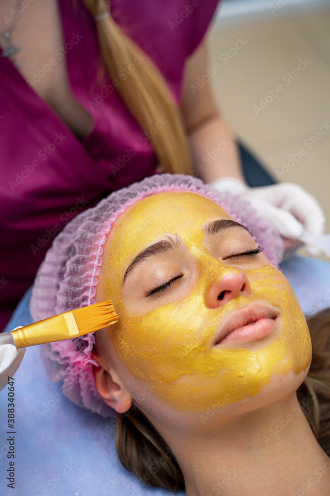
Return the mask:
[(175, 409), (201, 412), (307, 369), (302, 310), (258, 251), (246, 229), (197, 193), (146, 197), (117, 219), (102, 296), (119, 314), (109, 338), (134, 380)]

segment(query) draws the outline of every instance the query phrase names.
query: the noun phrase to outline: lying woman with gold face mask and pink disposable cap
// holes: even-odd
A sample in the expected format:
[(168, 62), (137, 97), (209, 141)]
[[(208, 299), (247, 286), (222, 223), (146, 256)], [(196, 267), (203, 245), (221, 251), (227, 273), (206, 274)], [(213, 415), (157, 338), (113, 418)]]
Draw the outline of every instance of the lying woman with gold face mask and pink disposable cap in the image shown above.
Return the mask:
[(55, 239), (33, 317), (110, 299), (119, 321), (44, 345), (52, 379), (117, 412), (118, 457), (145, 483), (329, 496), (330, 317), (311, 319), (312, 357), (282, 249), (238, 197), (169, 174), (110, 194)]

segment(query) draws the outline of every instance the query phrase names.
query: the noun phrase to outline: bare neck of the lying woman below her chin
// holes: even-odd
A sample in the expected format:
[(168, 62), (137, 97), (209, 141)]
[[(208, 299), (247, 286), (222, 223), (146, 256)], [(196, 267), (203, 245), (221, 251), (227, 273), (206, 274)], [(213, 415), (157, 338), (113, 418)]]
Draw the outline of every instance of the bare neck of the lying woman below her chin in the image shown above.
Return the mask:
[(176, 432), (166, 440), (183, 471), (187, 496), (329, 496), (330, 459), (295, 394), (217, 424), (212, 432), (197, 437)]

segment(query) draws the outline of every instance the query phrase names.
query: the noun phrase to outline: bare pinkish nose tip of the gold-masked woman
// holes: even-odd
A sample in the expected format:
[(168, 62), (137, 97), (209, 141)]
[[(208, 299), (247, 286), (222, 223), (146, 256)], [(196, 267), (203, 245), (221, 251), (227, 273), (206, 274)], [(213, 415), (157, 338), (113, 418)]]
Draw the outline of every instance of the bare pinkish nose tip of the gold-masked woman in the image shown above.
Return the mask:
[(220, 308), (238, 296), (250, 294), (251, 286), (245, 272), (236, 269), (212, 283), (206, 296), (206, 305), (210, 309)]

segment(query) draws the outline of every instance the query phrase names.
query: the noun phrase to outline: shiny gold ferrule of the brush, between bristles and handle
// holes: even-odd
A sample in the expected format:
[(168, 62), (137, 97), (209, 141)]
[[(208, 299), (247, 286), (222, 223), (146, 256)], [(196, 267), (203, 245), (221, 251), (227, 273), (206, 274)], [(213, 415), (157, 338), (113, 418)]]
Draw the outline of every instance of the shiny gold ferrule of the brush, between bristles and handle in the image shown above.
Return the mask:
[(45, 318), (11, 331), (16, 348), (72, 339), (80, 336), (72, 311)]

